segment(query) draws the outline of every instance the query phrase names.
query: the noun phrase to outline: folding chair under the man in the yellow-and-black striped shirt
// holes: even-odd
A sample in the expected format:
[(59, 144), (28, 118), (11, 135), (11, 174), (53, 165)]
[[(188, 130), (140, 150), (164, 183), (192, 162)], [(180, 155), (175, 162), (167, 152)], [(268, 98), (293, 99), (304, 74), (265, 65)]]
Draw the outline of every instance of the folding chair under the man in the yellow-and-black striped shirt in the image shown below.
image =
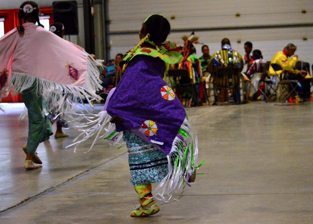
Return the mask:
[(219, 104), (218, 95), (221, 88), (232, 89), (233, 99), (236, 102), (241, 102), (240, 99), (240, 76), (237, 68), (219, 68), (217, 73), (213, 76), (213, 89), (215, 95), (215, 101)]

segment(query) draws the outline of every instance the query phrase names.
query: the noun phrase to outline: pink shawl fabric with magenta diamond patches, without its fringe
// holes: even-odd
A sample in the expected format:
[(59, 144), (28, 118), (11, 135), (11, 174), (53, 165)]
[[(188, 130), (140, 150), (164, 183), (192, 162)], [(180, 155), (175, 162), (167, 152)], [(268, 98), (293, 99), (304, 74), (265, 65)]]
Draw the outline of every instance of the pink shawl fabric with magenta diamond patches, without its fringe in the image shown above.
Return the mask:
[[(81, 49), (33, 23), (23, 24), (23, 35), (17, 29), (0, 38), (0, 72), (26, 74), (60, 84), (83, 87), (87, 76), (87, 57)], [(70, 67), (78, 76), (71, 77)]]

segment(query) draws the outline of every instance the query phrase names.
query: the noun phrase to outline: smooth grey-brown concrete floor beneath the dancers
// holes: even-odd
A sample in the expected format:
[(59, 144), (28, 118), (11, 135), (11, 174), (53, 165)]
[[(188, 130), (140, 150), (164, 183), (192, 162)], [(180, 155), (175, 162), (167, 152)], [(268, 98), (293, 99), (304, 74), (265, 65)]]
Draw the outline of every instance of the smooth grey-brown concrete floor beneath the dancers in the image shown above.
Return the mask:
[[(77, 135), (41, 143), (43, 168), (24, 169), (27, 121), (21, 104), (0, 112), (0, 223), (313, 223), (313, 104), (243, 105), (187, 109), (199, 139), (192, 187), (148, 218), (132, 218), (138, 204), (126, 147), (91, 140), (64, 149)], [(96, 109), (100, 110), (101, 106)], [(55, 126), (54, 126), (55, 130)], [(155, 185), (153, 186), (155, 187)]]

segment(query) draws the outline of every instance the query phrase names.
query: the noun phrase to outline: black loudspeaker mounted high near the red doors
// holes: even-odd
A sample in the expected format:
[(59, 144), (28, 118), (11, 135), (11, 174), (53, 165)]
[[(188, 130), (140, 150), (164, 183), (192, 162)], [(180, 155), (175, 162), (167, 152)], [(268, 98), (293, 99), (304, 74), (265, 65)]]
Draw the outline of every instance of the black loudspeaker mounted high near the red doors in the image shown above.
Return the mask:
[(52, 3), (54, 23), (63, 23), (64, 35), (78, 35), (78, 13), (76, 1), (57, 1)]

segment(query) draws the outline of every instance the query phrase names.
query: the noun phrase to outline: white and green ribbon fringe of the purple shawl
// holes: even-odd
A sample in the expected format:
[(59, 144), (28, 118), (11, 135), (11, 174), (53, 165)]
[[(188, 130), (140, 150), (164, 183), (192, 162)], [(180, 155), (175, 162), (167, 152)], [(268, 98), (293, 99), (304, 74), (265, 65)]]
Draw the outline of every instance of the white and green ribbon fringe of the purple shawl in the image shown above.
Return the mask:
[[(75, 128), (79, 128), (82, 133), (73, 141), (75, 142), (81, 136), (83, 136), (83, 138), (65, 148), (76, 145), (74, 149), (75, 152), (78, 144), (86, 141), (94, 135), (96, 135), (95, 139), (88, 151), (91, 150), (99, 138), (109, 138), (109, 140), (113, 140), (112, 145), (121, 145), (119, 142), (122, 139), (122, 132), (116, 133), (115, 124), (110, 123), (111, 116), (108, 115), (106, 111), (101, 111), (97, 115), (85, 115), (85, 119), (87, 122), (84, 124), (74, 126)], [(81, 129), (85, 127), (89, 128), (86, 130)], [(100, 136), (100, 132), (103, 129), (105, 130), (105, 133)], [(198, 137), (196, 134), (193, 135), (192, 132), (195, 133), (195, 129), (189, 124), (187, 118), (185, 118), (179, 133), (173, 141), (171, 152), (167, 155), (168, 174), (155, 189), (154, 197), (157, 200), (169, 202), (172, 199), (172, 194), (175, 189), (179, 189), (185, 184), (189, 185), (187, 183), (189, 176), (198, 166)]]

